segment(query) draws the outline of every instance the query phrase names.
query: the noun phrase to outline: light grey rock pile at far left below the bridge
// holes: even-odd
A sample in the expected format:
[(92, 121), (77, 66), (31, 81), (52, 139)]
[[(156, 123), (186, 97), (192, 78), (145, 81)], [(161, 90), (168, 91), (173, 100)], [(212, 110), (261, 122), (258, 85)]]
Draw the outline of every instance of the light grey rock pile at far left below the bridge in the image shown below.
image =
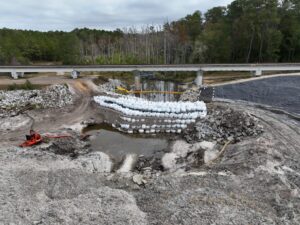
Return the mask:
[(61, 108), (73, 103), (66, 85), (53, 85), (44, 90), (0, 91), (0, 118), (14, 116), (26, 107)]

